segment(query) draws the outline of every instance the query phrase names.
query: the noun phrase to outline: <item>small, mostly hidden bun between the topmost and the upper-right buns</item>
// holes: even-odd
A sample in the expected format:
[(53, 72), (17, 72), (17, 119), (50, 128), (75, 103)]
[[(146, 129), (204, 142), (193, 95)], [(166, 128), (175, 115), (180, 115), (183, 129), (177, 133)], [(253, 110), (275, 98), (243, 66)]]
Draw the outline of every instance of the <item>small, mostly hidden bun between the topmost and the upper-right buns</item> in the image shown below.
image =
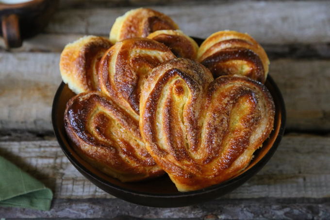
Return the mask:
[(177, 57), (192, 60), (197, 58), (198, 44), (180, 30), (155, 31), (148, 38), (165, 44)]

